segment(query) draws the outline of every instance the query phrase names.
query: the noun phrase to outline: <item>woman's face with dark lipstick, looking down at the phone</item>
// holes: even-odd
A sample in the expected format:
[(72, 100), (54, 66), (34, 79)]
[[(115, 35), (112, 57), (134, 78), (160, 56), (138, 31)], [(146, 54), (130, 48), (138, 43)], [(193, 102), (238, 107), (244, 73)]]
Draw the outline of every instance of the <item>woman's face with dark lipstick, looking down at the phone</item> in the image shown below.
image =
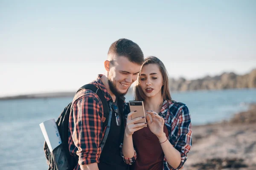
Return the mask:
[(145, 96), (162, 96), (163, 77), (157, 64), (143, 66), (140, 73), (140, 87)]

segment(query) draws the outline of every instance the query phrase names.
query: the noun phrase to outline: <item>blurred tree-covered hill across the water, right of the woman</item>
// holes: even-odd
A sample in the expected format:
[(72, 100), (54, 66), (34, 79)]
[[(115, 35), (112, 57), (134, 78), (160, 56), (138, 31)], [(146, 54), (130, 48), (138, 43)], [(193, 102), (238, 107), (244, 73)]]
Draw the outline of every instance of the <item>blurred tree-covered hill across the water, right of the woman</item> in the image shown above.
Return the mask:
[(223, 73), (218, 76), (206, 76), (202, 79), (169, 79), (171, 91), (218, 90), (231, 88), (256, 88), (256, 69), (245, 75)]

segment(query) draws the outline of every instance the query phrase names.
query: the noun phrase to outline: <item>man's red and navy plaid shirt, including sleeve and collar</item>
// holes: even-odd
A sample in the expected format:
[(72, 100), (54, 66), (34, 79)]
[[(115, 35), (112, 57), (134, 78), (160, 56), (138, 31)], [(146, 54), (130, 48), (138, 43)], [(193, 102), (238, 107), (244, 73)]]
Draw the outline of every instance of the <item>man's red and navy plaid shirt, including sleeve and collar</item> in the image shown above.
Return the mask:
[[(111, 100), (105, 85), (98, 75), (91, 84), (100, 88), (107, 101)], [(105, 129), (102, 129), (103, 106), (99, 97), (91, 90), (79, 91), (73, 99), (69, 119), (69, 150), (71, 155), (79, 156), (79, 164), (75, 170), (80, 169), (82, 164), (99, 163), (101, 154), (100, 142)]]

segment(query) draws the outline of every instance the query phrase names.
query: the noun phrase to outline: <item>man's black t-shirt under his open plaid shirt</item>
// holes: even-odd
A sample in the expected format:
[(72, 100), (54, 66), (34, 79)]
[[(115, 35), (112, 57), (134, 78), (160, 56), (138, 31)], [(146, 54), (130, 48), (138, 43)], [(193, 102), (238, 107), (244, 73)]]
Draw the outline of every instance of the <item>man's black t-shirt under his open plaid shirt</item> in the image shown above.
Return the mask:
[(119, 146), (122, 143), (125, 129), (120, 108), (122, 109), (122, 107), (119, 107), (119, 116), (121, 120), (119, 126), (116, 125), (116, 116), (112, 108), (111, 126), (99, 159), (99, 170), (129, 170), (129, 165), (123, 161), (120, 154), (121, 148)]

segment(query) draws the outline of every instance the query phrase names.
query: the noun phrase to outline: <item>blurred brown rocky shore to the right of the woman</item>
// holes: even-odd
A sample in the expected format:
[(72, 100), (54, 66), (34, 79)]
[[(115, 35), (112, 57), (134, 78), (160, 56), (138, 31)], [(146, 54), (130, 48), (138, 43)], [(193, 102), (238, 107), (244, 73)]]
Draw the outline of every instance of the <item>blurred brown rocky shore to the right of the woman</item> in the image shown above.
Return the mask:
[(192, 130), (183, 170), (256, 170), (256, 104), (229, 121)]

